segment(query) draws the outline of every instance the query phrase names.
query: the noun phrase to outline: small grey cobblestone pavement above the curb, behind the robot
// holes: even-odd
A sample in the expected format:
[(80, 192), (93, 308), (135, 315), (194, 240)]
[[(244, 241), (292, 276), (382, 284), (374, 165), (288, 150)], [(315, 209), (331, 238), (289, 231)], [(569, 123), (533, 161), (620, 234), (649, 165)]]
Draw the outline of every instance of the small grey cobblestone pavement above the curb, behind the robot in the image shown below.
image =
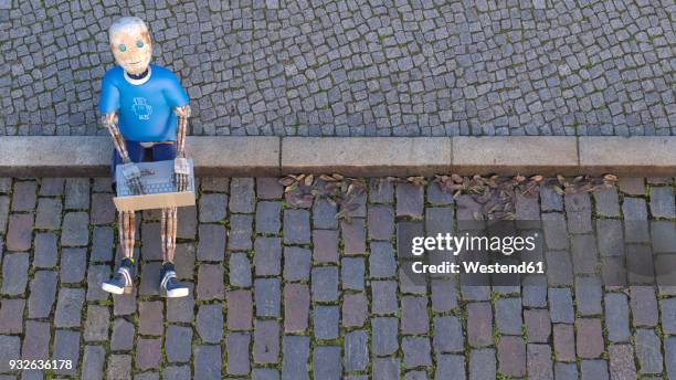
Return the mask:
[(95, 135), (107, 27), (146, 19), (194, 135), (673, 135), (676, 6), (0, 1), (0, 135)]

